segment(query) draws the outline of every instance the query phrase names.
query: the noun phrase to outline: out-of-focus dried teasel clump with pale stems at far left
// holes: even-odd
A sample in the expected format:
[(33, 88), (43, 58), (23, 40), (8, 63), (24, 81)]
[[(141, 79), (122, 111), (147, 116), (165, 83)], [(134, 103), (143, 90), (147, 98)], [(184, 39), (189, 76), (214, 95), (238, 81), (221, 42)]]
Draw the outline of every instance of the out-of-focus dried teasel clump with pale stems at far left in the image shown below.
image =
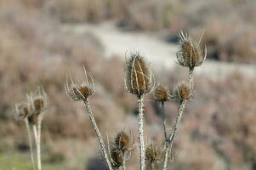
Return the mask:
[(15, 105), (16, 115), (24, 119), (28, 133), (29, 145), (31, 150), (31, 163), (35, 170), (35, 156), (33, 153), (33, 140), (31, 138), (31, 127), (34, 135), (34, 143), (37, 149), (37, 170), (42, 169), (41, 163), (41, 124), (44, 112), (48, 108), (48, 96), (42, 86), (38, 86), (36, 91), (26, 95), (27, 101), (21, 105)]

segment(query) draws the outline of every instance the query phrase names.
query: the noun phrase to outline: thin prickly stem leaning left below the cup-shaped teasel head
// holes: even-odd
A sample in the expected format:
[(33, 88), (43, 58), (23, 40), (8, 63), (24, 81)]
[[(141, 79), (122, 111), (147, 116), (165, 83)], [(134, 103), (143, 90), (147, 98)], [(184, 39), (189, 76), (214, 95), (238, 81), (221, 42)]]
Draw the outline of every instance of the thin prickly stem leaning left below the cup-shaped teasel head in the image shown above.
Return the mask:
[(104, 156), (104, 158), (105, 158), (105, 161), (106, 161), (106, 163), (107, 163), (109, 169), (112, 170), (110, 158), (109, 158), (109, 156), (107, 155), (107, 152), (106, 152), (106, 150), (105, 150), (105, 144), (104, 144), (104, 141), (103, 141), (103, 139), (102, 139), (102, 137), (101, 137), (100, 130), (99, 130), (99, 128), (98, 128), (98, 126), (97, 126), (97, 124), (96, 124), (96, 122), (95, 122), (93, 112), (92, 112), (91, 107), (90, 107), (90, 105), (89, 105), (89, 103), (88, 103), (88, 99), (85, 99), (85, 100), (83, 101), (83, 103), (84, 103), (84, 105), (85, 105), (85, 107), (86, 107), (86, 109), (87, 109), (87, 111), (88, 111), (88, 116), (89, 116), (89, 118), (90, 118), (90, 120), (91, 120), (91, 122), (92, 122), (92, 124), (93, 124), (94, 132), (95, 132), (95, 134), (96, 134), (96, 136), (97, 136), (97, 138), (98, 138), (98, 140), (99, 140), (99, 142), (100, 142), (100, 148), (101, 148), (101, 151), (102, 151), (103, 156)]

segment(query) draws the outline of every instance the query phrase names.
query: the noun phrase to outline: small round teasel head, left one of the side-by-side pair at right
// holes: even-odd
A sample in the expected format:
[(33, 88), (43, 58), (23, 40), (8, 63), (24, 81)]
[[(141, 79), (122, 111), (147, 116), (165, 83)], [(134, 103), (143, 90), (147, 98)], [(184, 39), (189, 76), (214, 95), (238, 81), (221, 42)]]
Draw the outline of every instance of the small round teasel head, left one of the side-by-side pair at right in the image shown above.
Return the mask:
[(154, 98), (156, 101), (165, 102), (170, 98), (170, 92), (167, 87), (158, 84), (154, 90)]

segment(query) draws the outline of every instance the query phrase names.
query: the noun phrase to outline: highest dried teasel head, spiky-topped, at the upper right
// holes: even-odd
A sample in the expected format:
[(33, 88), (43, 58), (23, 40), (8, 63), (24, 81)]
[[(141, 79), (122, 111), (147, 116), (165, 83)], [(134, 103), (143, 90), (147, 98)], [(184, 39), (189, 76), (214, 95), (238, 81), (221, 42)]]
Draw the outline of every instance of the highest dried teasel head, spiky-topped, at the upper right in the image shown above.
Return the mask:
[(188, 34), (180, 31), (178, 35), (179, 51), (177, 53), (177, 59), (180, 65), (189, 67), (190, 69), (202, 65), (207, 55), (207, 48), (204, 46), (204, 49), (202, 49), (200, 44), (201, 38), (199, 42), (195, 43), (192, 42)]

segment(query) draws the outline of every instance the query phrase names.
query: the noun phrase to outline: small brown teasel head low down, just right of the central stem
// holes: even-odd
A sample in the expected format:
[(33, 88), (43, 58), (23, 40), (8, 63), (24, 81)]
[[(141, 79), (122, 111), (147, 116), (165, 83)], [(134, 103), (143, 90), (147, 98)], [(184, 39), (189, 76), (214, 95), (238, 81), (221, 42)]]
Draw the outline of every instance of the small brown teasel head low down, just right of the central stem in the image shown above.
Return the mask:
[(145, 159), (151, 163), (158, 163), (162, 158), (161, 153), (161, 150), (159, 150), (156, 145), (150, 144), (145, 150)]

